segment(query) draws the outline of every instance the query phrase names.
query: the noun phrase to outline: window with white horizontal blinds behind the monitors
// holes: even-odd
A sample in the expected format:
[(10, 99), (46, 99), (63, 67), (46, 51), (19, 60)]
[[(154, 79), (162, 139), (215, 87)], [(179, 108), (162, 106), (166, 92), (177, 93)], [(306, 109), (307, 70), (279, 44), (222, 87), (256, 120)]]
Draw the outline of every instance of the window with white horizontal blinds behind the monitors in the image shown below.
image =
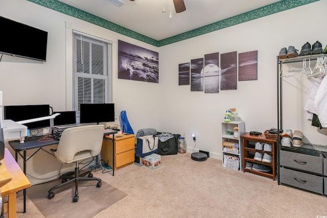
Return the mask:
[(73, 110), (112, 103), (112, 43), (73, 31)]

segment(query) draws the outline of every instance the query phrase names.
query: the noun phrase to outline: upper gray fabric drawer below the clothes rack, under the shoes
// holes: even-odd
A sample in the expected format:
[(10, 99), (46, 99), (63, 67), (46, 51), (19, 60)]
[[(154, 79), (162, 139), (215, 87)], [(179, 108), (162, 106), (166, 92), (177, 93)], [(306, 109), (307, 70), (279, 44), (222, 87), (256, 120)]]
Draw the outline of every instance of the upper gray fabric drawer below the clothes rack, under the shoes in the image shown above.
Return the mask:
[(323, 158), (312, 155), (281, 151), (281, 165), (321, 175), (323, 173)]

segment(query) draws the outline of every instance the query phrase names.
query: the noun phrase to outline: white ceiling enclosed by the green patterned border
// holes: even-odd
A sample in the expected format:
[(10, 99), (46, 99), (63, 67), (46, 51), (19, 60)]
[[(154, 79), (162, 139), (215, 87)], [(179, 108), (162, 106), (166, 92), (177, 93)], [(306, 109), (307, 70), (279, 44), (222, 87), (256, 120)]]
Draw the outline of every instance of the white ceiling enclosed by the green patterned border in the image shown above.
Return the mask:
[[(165, 39), (251, 11), (276, 0), (184, 0), (186, 11), (176, 13), (173, 0), (59, 0), (155, 40)], [(166, 13), (162, 13), (164, 10)], [(172, 17), (170, 18), (170, 12)]]

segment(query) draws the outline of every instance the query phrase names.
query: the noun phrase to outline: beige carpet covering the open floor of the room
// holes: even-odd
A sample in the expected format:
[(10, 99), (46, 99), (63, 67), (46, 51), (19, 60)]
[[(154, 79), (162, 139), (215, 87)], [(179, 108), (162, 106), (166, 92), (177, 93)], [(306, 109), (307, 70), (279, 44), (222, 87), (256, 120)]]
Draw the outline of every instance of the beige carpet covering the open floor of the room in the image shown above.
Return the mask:
[[(190, 153), (161, 156), (161, 166), (154, 170), (132, 164), (115, 171), (114, 176), (110, 173), (97, 173), (94, 176), (126, 192), (128, 196), (88, 217), (327, 216), (325, 196), (278, 185), (277, 181), (267, 177), (224, 168), (221, 160), (208, 158), (197, 162), (191, 159)], [(98, 198), (92, 194), (90, 196)], [(52, 210), (51, 204), (48, 207)], [(87, 206), (76, 206), (73, 211), (86, 213), (88, 209)], [(19, 192), (17, 217), (48, 216), (42, 215), (29, 198), (27, 212), (22, 213), (22, 194)], [(60, 215), (57, 214), (57, 217)]]

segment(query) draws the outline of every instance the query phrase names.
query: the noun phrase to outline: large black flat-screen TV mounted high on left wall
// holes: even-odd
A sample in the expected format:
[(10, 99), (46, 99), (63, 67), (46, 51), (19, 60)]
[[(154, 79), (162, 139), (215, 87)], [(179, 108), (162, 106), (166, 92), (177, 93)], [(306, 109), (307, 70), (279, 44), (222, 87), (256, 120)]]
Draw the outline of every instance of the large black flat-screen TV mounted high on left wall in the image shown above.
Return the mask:
[(46, 61), (48, 32), (0, 16), (0, 54)]

